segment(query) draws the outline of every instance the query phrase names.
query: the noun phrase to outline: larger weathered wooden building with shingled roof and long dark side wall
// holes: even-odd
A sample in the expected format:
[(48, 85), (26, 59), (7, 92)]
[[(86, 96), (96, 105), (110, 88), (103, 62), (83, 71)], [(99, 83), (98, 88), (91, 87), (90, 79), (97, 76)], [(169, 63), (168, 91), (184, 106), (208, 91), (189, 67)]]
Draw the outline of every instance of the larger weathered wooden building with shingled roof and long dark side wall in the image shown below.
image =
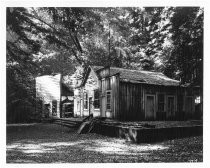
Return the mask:
[(187, 119), (201, 117), (201, 110), (196, 112), (199, 99), (199, 87), (181, 86), (160, 72), (90, 66), (74, 90), (74, 115), (120, 120)]

